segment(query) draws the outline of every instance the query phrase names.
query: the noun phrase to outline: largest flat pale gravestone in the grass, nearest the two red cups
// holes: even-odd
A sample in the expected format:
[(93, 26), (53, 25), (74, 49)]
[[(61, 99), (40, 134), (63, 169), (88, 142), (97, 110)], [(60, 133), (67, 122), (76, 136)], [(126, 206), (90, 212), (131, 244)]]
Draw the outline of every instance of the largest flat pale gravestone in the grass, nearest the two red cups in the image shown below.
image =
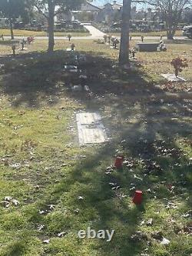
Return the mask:
[(108, 137), (98, 113), (78, 113), (76, 121), (80, 145), (101, 144), (107, 141)]

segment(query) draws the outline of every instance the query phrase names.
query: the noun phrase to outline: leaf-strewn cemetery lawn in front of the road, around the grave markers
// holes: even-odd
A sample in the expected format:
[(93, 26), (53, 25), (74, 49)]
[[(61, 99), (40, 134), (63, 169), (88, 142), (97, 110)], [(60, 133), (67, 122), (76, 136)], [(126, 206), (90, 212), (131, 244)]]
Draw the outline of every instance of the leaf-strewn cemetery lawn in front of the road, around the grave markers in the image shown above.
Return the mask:
[[(190, 256), (191, 43), (137, 53), (130, 73), (109, 45), (68, 45), (58, 40), (47, 55), (39, 40), (15, 58), (1, 46), (0, 255)], [(79, 78), (63, 65), (77, 54), (91, 92), (71, 91)], [(188, 60), (187, 82), (164, 81), (177, 55)], [(104, 145), (79, 147), (79, 111), (103, 117)], [(122, 170), (111, 168), (118, 154)], [(88, 227), (114, 238), (79, 239)]]

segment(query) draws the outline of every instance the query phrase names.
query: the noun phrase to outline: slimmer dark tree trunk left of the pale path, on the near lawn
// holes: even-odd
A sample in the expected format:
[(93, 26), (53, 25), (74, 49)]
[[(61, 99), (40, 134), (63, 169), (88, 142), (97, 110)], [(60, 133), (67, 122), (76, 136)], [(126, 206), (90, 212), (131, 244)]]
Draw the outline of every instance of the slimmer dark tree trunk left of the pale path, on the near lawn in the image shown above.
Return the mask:
[(55, 39), (54, 39), (54, 15), (55, 5), (51, 0), (48, 1), (48, 52), (53, 52)]

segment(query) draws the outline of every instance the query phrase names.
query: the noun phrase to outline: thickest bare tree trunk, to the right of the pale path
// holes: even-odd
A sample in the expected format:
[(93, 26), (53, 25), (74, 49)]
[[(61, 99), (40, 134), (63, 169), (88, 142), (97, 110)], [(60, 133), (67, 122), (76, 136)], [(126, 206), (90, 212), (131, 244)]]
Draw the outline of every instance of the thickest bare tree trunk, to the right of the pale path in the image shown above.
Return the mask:
[(121, 25), (121, 45), (119, 65), (129, 65), (129, 28), (131, 20), (131, 0), (124, 0)]

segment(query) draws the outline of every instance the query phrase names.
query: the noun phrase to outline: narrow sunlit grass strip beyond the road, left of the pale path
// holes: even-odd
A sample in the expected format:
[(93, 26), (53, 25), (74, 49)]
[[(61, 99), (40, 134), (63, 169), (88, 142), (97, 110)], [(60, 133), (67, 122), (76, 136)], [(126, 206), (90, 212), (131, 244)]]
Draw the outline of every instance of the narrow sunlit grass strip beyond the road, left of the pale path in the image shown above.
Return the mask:
[[(74, 32), (74, 33), (66, 33), (66, 32), (55, 32), (55, 36), (67, 36), (68, 34), (70, 34), (72, 37), (73, 36), (88, 36), (90, 35), (89, 32)], [(0, 35), (4, 35), (4, 36), (10, 36), (10, 29), (0, 29)], [(28, 30), (22, 30), (22, 29), (14, 29), (14, 35), (15, 36), (47, 36), (47, 32), (31, 32)]]

